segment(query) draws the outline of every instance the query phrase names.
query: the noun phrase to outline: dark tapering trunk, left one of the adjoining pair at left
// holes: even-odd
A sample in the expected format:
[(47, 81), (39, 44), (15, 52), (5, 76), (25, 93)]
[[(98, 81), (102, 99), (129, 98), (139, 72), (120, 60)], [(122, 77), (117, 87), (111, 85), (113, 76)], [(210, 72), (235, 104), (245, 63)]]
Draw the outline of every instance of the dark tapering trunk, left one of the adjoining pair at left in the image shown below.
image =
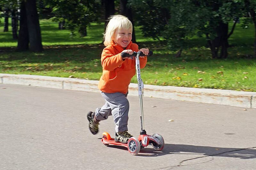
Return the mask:
[(28, 50), (28, 25), (27, 25), (27, 13), (25, 8), (25, 2), (22, 1), (20, 4), (20, 31), (18, 38), (18, 50)]

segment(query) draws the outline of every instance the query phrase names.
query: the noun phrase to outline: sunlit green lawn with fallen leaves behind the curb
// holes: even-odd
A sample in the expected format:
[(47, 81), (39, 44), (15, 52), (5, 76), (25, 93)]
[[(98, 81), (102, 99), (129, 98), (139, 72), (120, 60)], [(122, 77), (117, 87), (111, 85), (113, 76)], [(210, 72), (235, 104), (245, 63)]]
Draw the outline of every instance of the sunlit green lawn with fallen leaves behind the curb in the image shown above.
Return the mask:
[[(1, 52), (1, 73), (56, 77), (73, 75), (75, 78), (99, 80), (102, 74), (100, 54), (104, 48), (101, 44), (102, 24), (91, 24), (88, 36), (84, 38), (78, 35), (70, 38), (70, 32), (58, 30), (57, 23), (48, 20), (41, 20), (40, 23), (44, 51)], [(9, 29), (8, 33), (3, 33), (1, 22), (0, 49), (17, 45), (17, 41), (11, 40)], [(147, 66), (141, 70), (145, 84), (256, 92), (256, 59), (247, 57), (253, 54), (253, 27), (246, 30), (239, 25), (236, 27), (229, 39), (231, 47), (225, 60), (211, 59), (210, 49), (204, 47), (204, 38), (191, 38), (191, 48), (184, 49), (181, 58), (175, 58), (175, 52), (168, 50), (162, 42), (143, 37), (138, 27), (135, 31), (140, 47), (148, 47), (154, 52), (154, 57), (148, 57)], [(136, 81), (134, 76), (132, 83)]]

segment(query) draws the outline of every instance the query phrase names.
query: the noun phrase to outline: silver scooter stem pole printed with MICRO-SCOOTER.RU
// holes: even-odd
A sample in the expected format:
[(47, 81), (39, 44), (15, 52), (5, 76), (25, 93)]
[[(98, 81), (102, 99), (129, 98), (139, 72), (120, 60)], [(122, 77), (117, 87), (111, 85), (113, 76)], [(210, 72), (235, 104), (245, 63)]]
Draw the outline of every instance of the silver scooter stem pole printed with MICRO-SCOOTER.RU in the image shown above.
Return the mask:
[(139, 104), (140, 104), (140, 125), (141, 131), (140, 135), (146, 135), (145, 126), (144, 126), (144, 115), (143, 115), (143, 103), (142, 103), (142, 80), (140, 73), (140, 53), (137, 52), (136, 56), (136, 74), (138, 80), (138, 92), (139, 92)]

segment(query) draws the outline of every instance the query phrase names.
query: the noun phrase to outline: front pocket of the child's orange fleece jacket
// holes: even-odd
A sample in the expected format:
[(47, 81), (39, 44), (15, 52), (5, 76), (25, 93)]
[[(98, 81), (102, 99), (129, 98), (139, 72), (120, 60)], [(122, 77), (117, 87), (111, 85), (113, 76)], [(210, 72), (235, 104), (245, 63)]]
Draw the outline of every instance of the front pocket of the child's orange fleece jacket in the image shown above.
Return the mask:
[(122, 91), (128, 88), (132, 77), (135, 75), (135, 68), (131, 70), (121, 70), (116, 73), (116, 77), (109, 79), (109, 89)]

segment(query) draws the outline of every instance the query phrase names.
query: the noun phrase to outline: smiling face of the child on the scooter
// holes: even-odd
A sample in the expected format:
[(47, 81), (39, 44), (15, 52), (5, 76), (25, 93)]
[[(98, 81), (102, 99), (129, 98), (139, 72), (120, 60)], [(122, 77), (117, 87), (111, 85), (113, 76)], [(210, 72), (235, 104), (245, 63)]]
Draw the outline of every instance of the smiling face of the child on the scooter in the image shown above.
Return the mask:
[(132, 40), (132, 31), (127, 29), (117, 29), (114, 37), (115, 43), (125, 48)]

